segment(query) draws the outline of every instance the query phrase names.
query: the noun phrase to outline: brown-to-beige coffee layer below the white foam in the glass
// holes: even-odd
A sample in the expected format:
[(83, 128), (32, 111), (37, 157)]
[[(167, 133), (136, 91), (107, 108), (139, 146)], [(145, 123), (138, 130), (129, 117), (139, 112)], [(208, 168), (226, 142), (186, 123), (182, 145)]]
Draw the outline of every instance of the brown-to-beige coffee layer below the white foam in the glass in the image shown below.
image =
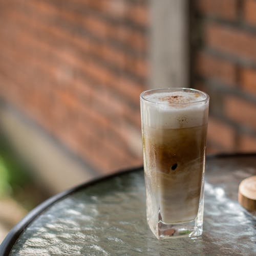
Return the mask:
[(206, 129), (206, 125), (162, 130), (144, 126), (147, 212), (152, 216), (149, 219), (177, 223), (196, 218)]

